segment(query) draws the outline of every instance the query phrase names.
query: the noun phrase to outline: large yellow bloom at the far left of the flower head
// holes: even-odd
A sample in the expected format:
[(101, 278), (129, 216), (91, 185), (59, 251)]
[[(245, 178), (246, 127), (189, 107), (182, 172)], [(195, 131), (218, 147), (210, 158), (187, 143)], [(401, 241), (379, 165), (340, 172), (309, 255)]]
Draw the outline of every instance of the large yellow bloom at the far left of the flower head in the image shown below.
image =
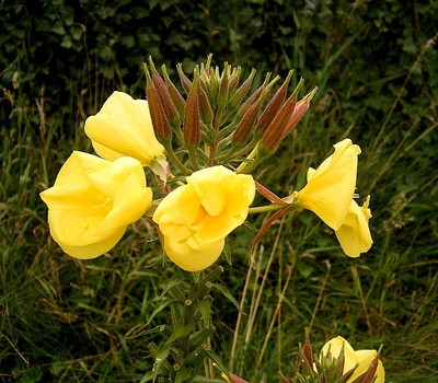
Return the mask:
[(141, 218), (152, 190), (136, 159), (112, 162), (74, 151), (41, 198), (54, 240), (72, 257), (89, 259), (114, 247), (128, 224)]

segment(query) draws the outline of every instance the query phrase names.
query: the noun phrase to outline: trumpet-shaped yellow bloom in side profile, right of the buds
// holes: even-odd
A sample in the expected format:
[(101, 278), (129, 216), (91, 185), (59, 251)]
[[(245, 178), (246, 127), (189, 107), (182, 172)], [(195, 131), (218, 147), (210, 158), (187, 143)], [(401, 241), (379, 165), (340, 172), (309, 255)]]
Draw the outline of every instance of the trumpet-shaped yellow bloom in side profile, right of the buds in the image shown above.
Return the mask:
[(309, 169), (308, 184), (295, 197), (333, 230), (344, 223), (356, 187), (360, 148), (345, 139), (316, 170)]

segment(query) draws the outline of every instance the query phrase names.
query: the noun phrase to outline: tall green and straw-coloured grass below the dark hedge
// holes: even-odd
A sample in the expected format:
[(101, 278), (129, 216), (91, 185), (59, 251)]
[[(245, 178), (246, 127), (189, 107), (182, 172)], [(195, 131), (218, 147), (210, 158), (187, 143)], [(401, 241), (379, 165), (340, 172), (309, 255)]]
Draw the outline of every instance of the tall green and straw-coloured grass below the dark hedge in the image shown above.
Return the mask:
[[(362, 126), (368, 111), (359, 104), (356, 119), (339, 124), (347, 120), (335, 109), (342, 97), (321, 89), (297, 138), (265, 163), (257, 179), (284, 196), (303, 184), (306, 169), (318, 165), (333, 143), (351, 137), (362, 149), (358, 193), (372, 196), (373, 247), (347, 258), (332, 231), (304, 212), (276, 222), (250, 258), (254, 233), (239, 229), (232, 235), (233, 267), (222, 282), (245, 314), (215, 295), (218, 333), (211, 341), (224, 363), (251, 382), (276, 382), (278, 371), (292, 376), (306, 327), (315, 350), (336, 335), (356, 349), (384, 345), (387, 382), (436, 382), (436, 102), (403, 121), (394, 96), (381, 125), (371, 129)], [(146, 323), (175, 271), (161, 267), (153, 227), (140, 221), (110, 256), (76, 260), (50, 239), (38, 197), (71, 150), (91, 152), (73, 105), (95, 105), (83, 103), (72, 94), (71, 114), (48, 113), (18, 93), (1, 127), (3, 382), (138, 382), (152, 365), (148, 344), (159, 338)]]

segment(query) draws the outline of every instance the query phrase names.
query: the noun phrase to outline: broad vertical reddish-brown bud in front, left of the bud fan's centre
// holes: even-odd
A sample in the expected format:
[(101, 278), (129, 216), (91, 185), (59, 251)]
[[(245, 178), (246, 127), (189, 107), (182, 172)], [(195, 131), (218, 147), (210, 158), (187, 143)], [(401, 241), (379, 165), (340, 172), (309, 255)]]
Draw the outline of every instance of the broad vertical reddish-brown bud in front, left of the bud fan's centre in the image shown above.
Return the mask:
[(184, 115), (184, 142), (187, 148), (196, 148), (200, 140), (199, 127), (199, 73), (195, 71), (191, 91), (185, 104)]

